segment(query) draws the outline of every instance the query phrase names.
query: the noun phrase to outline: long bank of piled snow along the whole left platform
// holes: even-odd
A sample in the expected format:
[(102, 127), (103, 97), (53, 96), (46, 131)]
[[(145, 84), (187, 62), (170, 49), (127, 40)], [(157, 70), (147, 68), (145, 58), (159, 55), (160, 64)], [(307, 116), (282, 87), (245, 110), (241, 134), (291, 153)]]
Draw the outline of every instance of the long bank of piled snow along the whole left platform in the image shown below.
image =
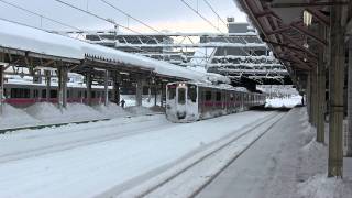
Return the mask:
[(50, 102), (37, 102), (20, 109), (6, 103), (3, 114), (0, 116), (0, 130), (161, 113), (153, 111), (155, 107), (134, 106), (123, 109), (116, 103), (109, 103), (107, 107), (68, 103), (66, 109), (61, 110), (56, 105)]

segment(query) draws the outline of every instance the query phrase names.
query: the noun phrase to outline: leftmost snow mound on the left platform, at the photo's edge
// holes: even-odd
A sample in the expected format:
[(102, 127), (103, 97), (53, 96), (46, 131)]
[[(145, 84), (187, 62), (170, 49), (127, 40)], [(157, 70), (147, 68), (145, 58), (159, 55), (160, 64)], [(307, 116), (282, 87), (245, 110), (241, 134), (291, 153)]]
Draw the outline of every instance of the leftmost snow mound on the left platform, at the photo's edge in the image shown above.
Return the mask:
[(0, 129), (19, 128), (37, 123), (41, 123), (41, 121), (32, 118), (25, 111), (7, 103), (3, 105), (2, 114), (0, 114)]

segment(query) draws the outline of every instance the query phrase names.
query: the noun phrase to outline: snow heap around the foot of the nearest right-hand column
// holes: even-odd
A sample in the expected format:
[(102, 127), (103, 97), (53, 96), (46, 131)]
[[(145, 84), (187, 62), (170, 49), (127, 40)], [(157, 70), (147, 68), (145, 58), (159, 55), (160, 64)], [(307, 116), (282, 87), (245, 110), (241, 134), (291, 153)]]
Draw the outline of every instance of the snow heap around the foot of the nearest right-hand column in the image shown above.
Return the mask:
[(339, 178), (328, 178), (326, 174), (318, 174), (298, 185), (298, 194), (302, 198), (350, 198), (352, 182)]

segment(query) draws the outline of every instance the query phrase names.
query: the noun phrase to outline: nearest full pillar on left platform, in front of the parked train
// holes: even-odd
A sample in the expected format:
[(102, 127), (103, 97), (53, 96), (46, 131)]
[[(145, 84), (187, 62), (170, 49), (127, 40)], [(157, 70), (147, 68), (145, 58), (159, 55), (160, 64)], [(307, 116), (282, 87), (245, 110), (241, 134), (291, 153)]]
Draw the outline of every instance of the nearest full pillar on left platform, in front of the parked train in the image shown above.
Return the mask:
[(68, 69), (61, 65), (57, 68), (58, 76), (58, 107), (66, 108), (67, 107), (67, 78), (68, 78)]

